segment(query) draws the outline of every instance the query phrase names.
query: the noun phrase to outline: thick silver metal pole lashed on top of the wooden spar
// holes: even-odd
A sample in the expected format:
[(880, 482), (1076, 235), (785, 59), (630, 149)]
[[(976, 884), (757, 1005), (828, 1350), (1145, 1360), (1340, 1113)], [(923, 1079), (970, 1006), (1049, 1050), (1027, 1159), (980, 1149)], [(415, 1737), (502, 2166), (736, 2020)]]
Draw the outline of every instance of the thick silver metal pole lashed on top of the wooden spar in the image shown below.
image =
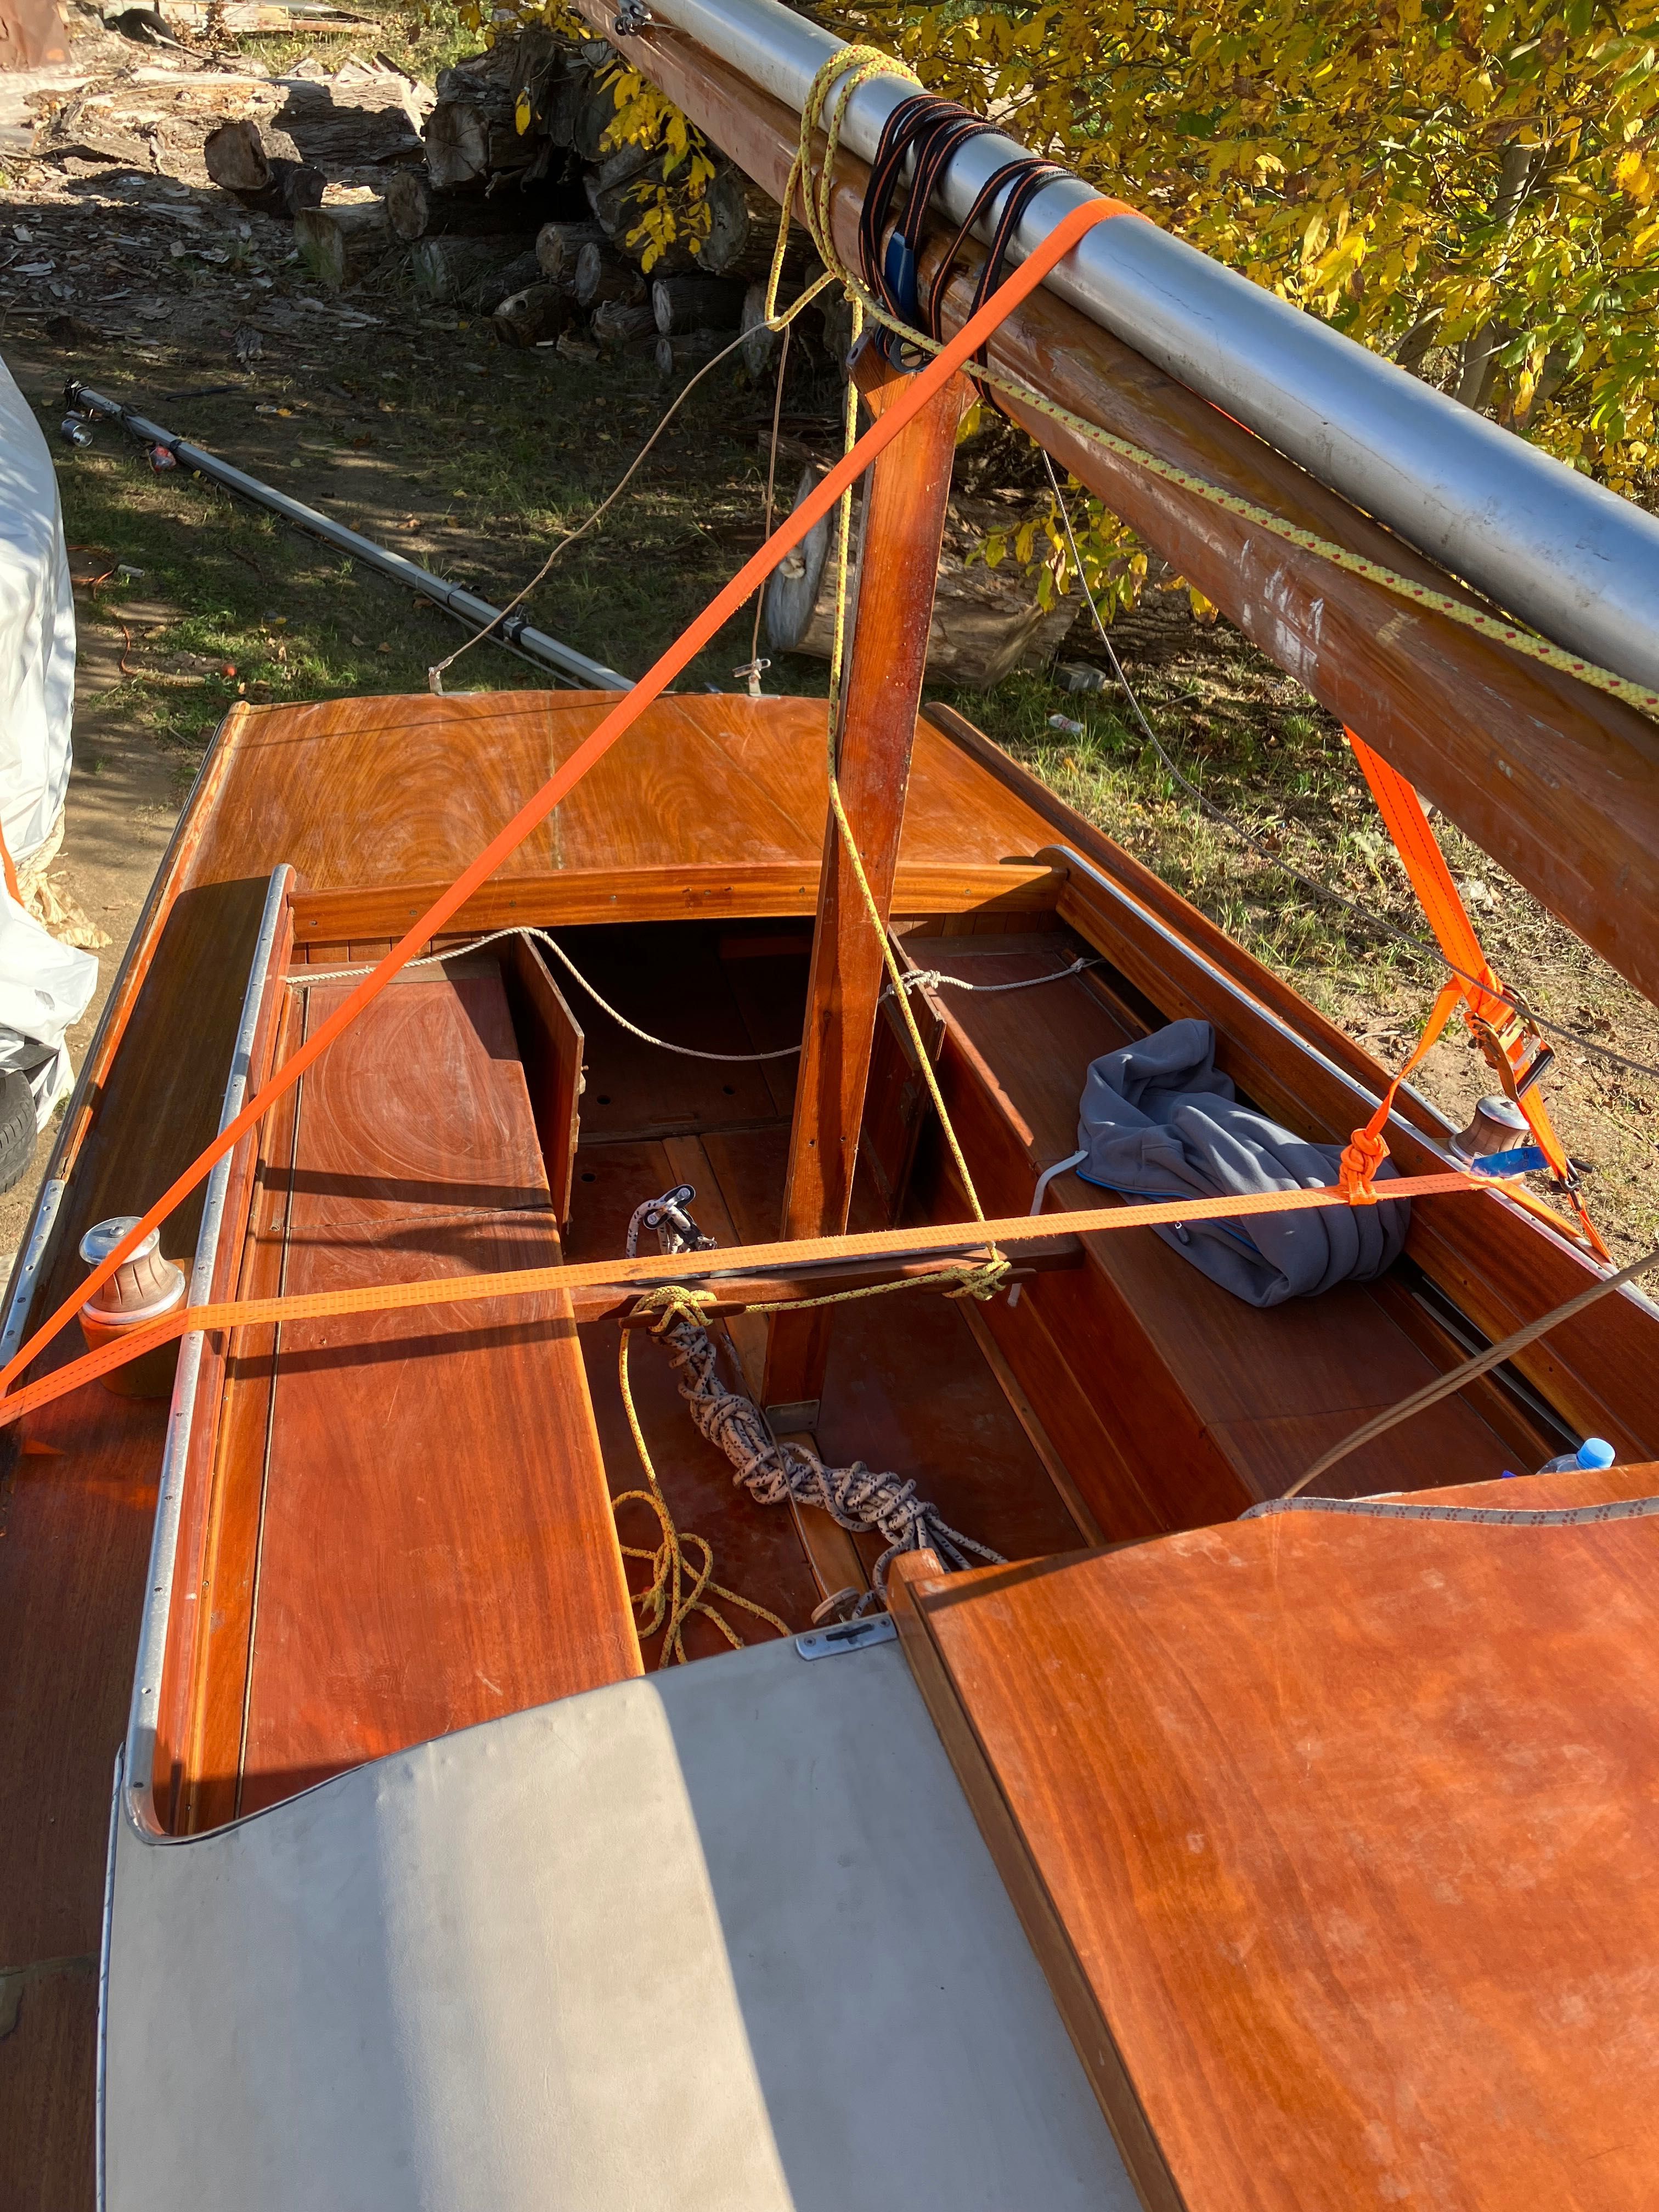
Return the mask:
[[(779, 0), (653, 0), (650, 18), (794, 113), (843, 46)], [(626, 51), (628, 38), (611, 20), (604, 35)], [(860, 84), (843, 144), (869, 159), (907, 93), (898, 77)], [(991, 170), (1022, 150), (998, 133), (971, 139), (945, 175), (947, 212), (960, 219)], [(1020, 223), (1015, 257), (1086, 197), (1095, 195), (1079, 179), (1040, 192)], [(1639, 507), (1157, 223), (1099, 223), (1046, 281), (1511, 615), (1590, 661), (1659, 686), (1659, 520)]]

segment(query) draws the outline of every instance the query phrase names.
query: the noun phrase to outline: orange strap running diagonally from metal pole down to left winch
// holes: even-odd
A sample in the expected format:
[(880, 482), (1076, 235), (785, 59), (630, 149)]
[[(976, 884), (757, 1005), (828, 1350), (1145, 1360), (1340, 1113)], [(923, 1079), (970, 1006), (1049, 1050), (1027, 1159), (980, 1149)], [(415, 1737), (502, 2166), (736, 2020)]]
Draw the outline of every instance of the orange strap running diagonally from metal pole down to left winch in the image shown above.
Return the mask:
[(991, 299), (980, 307), (978, 314), (958, 330), (958, 334), (938, 354), (931, 356), (925, 369), (907, 378), (905, 392), (900, 392), (889, 407), (883, 407), (880, 416), (863, 434), (849, 453), (845, 453), (834, 469), (823, 478), (816, 491), (779, 524), (776, 531), (765, 540), (752, 560), (745, 560), (730, 584), (719, 591), (708, 606), (697, 615), (697, 619), (679, 633), (675, 644), (661, 655), (661, 659), (646, 670), (635, 688), (622, 697), (604, 721), (584, 737), (575, 748), (571, 759), (551, 776), (542, 790), (529, 799), (518, 814), (500, 830), (489, 845), (478, 854), (478, 858), (462, 869), (460, 876), (449, 885), (442, 898), (434, 900), (431, 907), (414, 922), (411, 929), (392, 947), (392, 951), (380, 960), (352, 991), (352, 995), (323, 1022), (321, 1029), (310, 1035), (296, 1053), (292, 1053), (283, 1066), (272, 1075), (263, 1091), (259, 1091), (234, 1121), (228, 1121), (219, 1130), (215, 1141), (206, 1152), (195, 1159), (184, 1175), (161, 1192), (161, 1197), (150, 1206), (150, 1210), (137, 1221), (137, 1225), (115, 1245), (108, 1259), (102, 1259), (97, 1267), (86, 1276), (80, 1290), (66, 1298), (58, 1312), (44, 1321), (35, 1334), (22, 1345), (13, 1358), (0, 1369), (0, 1391), (7, 1391), (15, 1378), (40, 1356), (40, 1352), (53, 1340), (53, 1336), (73, 1321), (77, 1307), (122, 1265), (122, 1261), (159, 1228), (166, 1217), (179, 1206), (190, 1192), (206, 1181), (215, 1164), (232, 1150), (241, 1137), (263, 1119), (265, 1113), (283, 1097), (285, 1091), (299, 1082), (299, 1077), (310, 1068), (341, 1031), (349, 1029), (352, 1022), (363, 1013), (369, 1000), (378, 998), (380, 991), (392, 982), (398, 969), (414, 960), (420, 947), (438, 936), (438, 931), (449, 922), (449, 918), (467, 905), (473, 891), (484, 883), (509, 854), (518, 852), (524, 838), (553, 812), (560, 801), (564, 801), (575, 785), (586, 776), (586, 772), (617, 743), (617, 739), (633, 728), (644, 710), (659, 699), (675, 677), (701, 653), (701, 648), (714, 637), (714, 633), (737, 615), (750, 599), (750, 595), (765, 582), (765, 577), (776, 568), (785, 553), (794, 551), (807, 531), (836, 504), (843, 491), (847, 491), (883, 453), (894, 438), (905, 429), (905, 425), (920, 414), (922, 407), (940, 392), (949, 378), (969, 361), (991, 336), (991, 332), (1020, 305), (1020, 301), (1035, 292), (1042, 279), (1062, 261), (1077, 239), (1095, 223), (1113, 221), (1117, 206), (1110, 201), (1084, 201), (1060, 217), (1055, 228), (1035, 248), (1029, 259), (1024, 259), (1009, 276), (1002, 279)]

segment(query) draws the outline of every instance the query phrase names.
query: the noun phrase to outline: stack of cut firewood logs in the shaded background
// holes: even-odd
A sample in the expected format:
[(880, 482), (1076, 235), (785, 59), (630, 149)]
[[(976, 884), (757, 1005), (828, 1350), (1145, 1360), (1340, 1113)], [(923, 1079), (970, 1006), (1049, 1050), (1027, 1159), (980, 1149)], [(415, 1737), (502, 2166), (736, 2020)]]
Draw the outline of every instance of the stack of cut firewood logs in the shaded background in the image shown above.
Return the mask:
[[(697, 250), (675, 239), (646, 272), (641, 217), (664, 155), (606, 146), (615, 64), (602, 40), (542, 29), (498, 40), (438, 77), (422, 159), (392, 166), (383, 190), (325, 190), (296, 148), (254, 122), (212, 133), (208, 173), (248, 206), (290, 215), (307, 268), (332, 292), (403, 276), (436, 303), (489, 316), (504, 345), (630, 347), (664, 376), (748, 334), (743, 363), (759, 376), (776, 343), (763, 327), (776, 201), (714, 157)], [(796, 234), (785, 303), (805, 276)], [(834, 316), (814, 316), (803, 336), (845, 361)]]

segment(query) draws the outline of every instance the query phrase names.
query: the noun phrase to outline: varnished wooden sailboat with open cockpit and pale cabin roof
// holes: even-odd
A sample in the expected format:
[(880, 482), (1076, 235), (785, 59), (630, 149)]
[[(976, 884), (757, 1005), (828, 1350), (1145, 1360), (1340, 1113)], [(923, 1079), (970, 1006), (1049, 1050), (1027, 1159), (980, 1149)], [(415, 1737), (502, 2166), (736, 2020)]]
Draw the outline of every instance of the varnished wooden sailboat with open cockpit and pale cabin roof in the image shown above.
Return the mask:
[[(635, 35), (754, 157), (763, 95)], [(891, 374), (860, 380), (880, 411)], [(962, 1228), (949, 1135), (984, 1214), (1026, 1217), (1091, 1064), (1164, 1024), (1208, 1024), (1239, 1095), (1312, 1141), (1343, 1146), (1389, 1071), (958, 714), (918, 714), (960, 400), (872, 471), (838, 726), (945, 1121), (827, 825), (823, 706), (661, 697), (168, 1221), (148, 1265), (179, 1261), (192, 1305), (285, 1318), (192, 1329), (161, 1396), (117, 1369), (7, 1429), (13, 2201), (1648, 2201), (1659, 1321), (1615, 1292), (1321, 1482), (1444, 1517), (1241, 1522), (1593, 1287), (1568, 1225), (1464, 1177), (1416, 1199), (1387, 1272), (1272, 1307), (1144, 1228), (1055, 1234), (1110, 1206), (1071, 1175), (1026, 1243)], [(1294, 599), (1261, 595), (1281, 644)], [(1402, 765), (1455, 752), (1431, 650), (1509, 734), (1555, 701), (1557, 783), (1590, 732), (1604, 761), (1648, 743), (1447, 619), (1383, 628)], [(7, 1358), (80, 1296), (84, 1234), (281, 1077), (613, 706), (232, 712)], [(1467, 750), (1451, 774), (1498, 821)], [(1621, 810), (1632, 867), (1650, 803)], [(1648, 958), (1650, 918), (1597, 927)], [(1405, 1177), (1451, 1177), (1453, 1135), (1400, 1093)], [(675, 1192), (712, 1245), (628, 1263)], [(991, 1245), (1013, 1276), (947, 1296)], [(551, 1267), (531, 1296), (349, 1303)], [(757, 1504), (641, 1325), (670, 1279), (712, 1292), (723, 1387), (772, 1436), (896, 1471), (1013, 1564), (942, 1573)], [(810, 1303), (847, 1290), (878, 1294)], [(60, 1334), (29, 1378), (82, 1349)], [(1498, 1489), (1586, 1436), (1617, 1462)], [(1566, 1517), (1493, 1526), (1495, 1502)], [(677, 1621), (641, 1601), (668, 1526), (701, 1599)]]

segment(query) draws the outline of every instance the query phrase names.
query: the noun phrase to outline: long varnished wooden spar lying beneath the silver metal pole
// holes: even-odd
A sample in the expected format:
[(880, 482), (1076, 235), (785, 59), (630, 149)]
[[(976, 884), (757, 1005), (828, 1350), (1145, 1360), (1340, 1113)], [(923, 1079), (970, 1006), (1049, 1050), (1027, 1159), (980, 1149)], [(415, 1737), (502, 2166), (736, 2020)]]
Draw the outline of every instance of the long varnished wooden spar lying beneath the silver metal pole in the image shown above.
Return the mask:
[[(611, 31), (599, 0), (577, 7), (595, 31)], [(787, 108), (679, 33), (644, 29), (628, 38), (628, 55), (768, 192), (783, 197), (799, 142)], [(836, 246), (856, 265), (867, 170), (843, 155), (836, 175)], [(978, 248), (964, 250), (960, 268), (964, 274), (947, 290), (947, 332), (960, 323)], [(1051, 292), (1040, 290), (1006, 319), (989, 358), (1223, 491), (1482, 604)], [(1263, 653), (1639, 991), (1659, 998), (1659, 730), (1646, 717), (1199, 493), (1082, 445), (1048, 416), (1013, 411)]]

